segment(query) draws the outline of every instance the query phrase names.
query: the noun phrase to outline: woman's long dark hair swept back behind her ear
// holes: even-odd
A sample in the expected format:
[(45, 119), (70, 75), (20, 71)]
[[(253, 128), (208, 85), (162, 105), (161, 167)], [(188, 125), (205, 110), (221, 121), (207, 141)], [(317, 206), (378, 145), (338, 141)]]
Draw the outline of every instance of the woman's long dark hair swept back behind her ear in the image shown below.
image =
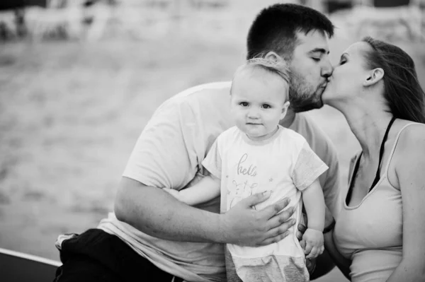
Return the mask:
[(399, 119), (425, 123), (425, 93), (419, 84), (413, 59), (401, 48), (365, 37), (372, 47), (365, 54), (370, 69), (381, 68), (385, 74), (384, 97), (391, 113)]

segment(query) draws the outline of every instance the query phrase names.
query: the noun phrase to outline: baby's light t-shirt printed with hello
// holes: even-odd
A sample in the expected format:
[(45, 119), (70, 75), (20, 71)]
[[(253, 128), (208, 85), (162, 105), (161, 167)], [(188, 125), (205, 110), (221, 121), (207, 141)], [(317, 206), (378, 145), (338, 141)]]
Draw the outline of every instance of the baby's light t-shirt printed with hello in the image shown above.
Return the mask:
[[(304, 137), (280, 126), (276, 134), (264, 141), (252, 141), (237, 127), (227, 129), (217, 137), (202, 164), (221, 180), (221, 199), (227, 203), (225, 211), (247, 196), (270, 191), (270, 198), (254, 208), (261, 209), (288, 197), (291, 201), (287, 208), (296, 207), (293, 217), (297, 223), (301, 215), (301, 191), (328, 169)], [(293, 228), (295, 226), (297, 224)], [(282, 244), (278, 242), (279, 246), (232, 245), (229, 250), (238, 257), (269, 254), (303, 257), (297, 239), (289, 237), (288, 240), (282, 240)]]

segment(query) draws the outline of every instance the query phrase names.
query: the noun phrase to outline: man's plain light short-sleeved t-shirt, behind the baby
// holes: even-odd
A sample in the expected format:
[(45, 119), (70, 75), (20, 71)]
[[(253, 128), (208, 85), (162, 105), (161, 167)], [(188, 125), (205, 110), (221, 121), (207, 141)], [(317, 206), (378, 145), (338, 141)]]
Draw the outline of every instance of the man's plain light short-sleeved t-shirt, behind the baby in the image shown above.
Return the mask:
[[(205, 173), (201, 163), (212, 143), (234, 125), (229, 111), (230, 86), (230, 82), (204, 84), (166, 100), (140, 134), (123, 177), (159, 188), (182, 189), (196, 183)], [(336, 216), (339, 165), (333, 144), (305, 114), (296, 114), (290, 129), (304, 136), (329, 166), (319, 180), (327, 206)], [(220, 197), (197, 207), (219, 213)], [(226, 280), (220, 244), (162, 240), (118, 221), (113, 213), (98, 228), (117, 235), (160, 269), (187, 281)]]

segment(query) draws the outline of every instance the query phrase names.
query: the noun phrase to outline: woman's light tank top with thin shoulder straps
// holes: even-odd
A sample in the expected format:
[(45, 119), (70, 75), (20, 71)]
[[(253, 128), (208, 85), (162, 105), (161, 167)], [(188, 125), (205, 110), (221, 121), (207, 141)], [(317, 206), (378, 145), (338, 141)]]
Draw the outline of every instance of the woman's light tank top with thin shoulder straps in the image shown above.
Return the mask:
[[(412, 123), (414, 124), (414, 123)], [(357, 206), (344, 206), (336, 221), (334, 241), (337, 249), (351, 259), (351, 281), (386, 281), (402, 260), (402, 194), (388, 181), (388, 167), (405, 125), (397, 134), (380, 180)], [(359, 155), (355, 163), (359, 161)], [(352, 189), (350, 174), (348, 192)]]

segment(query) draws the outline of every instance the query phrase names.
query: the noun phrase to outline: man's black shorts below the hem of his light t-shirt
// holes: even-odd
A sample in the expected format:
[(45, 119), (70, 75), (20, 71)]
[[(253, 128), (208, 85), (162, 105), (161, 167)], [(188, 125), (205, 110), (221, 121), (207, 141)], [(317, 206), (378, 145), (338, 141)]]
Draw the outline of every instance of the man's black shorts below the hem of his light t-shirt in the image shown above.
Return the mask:
[(141, 257), (120, 238), (100, 229), (89, 229), (64, 240), (60, 259), (62, 266), (57, 269), (54, 282), (171, 282), (174, 277)]

